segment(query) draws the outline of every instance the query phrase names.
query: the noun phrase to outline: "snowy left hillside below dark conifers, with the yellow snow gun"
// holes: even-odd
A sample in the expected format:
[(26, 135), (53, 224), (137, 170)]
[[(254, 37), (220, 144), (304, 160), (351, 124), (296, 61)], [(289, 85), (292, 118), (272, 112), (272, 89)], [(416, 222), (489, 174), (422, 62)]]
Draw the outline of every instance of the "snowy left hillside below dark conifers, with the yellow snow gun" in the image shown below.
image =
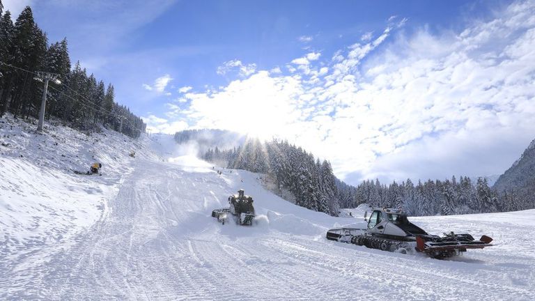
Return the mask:
[[(104, 130), (88, 136), (70, 128), (36, 126), (0, 118), (0, 257), (49, 254), (49, 246), (68, 245), (73, 236), (107, 211), (107, 200), (132, 171), (132, 151), (156, 158), (150, 141)], [(103, 176), (79, 176), (101, 162)], [(1, 260), (0, 269), (10, 263)]]

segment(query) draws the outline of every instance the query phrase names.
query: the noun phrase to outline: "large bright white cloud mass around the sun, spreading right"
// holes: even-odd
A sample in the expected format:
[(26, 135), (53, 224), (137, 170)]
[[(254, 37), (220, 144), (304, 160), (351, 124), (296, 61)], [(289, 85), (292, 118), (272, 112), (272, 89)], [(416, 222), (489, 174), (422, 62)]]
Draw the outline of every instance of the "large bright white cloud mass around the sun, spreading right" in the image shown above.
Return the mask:
[(289, 139), (350, 183), (499, 173), (534, 138), (534, 15), (533, 1), (516, 2), (458, 33), (409, 36), (396, 33), (402, 19), (332, 60), (304, 54), (284, 72), (187, 93), (183, 114)]

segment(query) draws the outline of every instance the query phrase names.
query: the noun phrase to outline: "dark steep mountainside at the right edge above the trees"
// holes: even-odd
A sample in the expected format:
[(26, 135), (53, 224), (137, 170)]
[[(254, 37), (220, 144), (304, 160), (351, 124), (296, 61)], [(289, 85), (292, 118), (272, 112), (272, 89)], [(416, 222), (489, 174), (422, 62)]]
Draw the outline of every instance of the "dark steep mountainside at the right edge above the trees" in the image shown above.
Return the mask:
[(535, 206), (535, 140), (493, 186), (499, 193), (513, 192), (526, 207)]

